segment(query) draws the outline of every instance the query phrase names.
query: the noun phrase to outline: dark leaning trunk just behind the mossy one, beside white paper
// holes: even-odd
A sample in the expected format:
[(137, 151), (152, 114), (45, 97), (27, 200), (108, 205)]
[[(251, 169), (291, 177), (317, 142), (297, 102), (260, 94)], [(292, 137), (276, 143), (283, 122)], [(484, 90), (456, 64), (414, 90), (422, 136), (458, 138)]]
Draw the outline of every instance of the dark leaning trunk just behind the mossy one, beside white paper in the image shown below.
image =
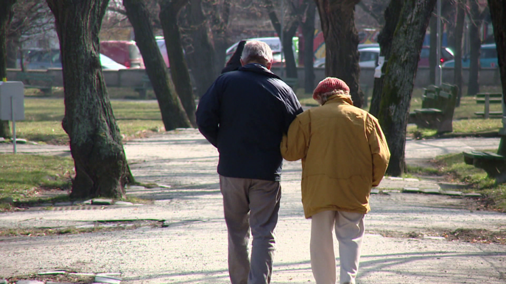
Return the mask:
[(390, 59), (392, 50), (392, 41), (394, 39), (395, 28), (399, 22), (402, 6), (404, 0), (391, 0), (387, 9), (385, 9), (385, 26), (378, 35), (378, 43), (380, 47), (379, 56), (385, 57), (385, 64), (382, 68), (382, 76), (374, 78), (374, 89), (372, 90), (371, 106), (369, 113), (373, 116), (378, 116), (379, 108), (382, 101), (383, 84), (385, 81), (385, 72), (387, 71), (387, 63)]

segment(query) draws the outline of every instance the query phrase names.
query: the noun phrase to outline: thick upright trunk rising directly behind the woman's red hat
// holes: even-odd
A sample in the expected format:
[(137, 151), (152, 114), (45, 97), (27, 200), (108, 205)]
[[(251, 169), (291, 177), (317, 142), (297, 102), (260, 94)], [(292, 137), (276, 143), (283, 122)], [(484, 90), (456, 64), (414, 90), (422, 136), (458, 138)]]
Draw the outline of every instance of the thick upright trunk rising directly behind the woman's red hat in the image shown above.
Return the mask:
[(325, 76), (338, 77), (350, 87), (353, 105), (361, 108), (359, 38), (355, 28), (355, 5), (360, 0), (315, 0), (325, 38)]

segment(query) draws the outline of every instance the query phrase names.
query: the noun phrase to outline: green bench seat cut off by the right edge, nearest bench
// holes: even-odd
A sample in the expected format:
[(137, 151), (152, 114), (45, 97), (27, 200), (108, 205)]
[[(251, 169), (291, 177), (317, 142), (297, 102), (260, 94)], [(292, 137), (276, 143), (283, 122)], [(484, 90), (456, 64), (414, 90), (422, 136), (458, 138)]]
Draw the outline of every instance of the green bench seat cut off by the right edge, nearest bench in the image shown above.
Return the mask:
[(483, 169), (496, 183), (506, 181), (506, 157), (492, 152), (463, 152), (464, 162)]

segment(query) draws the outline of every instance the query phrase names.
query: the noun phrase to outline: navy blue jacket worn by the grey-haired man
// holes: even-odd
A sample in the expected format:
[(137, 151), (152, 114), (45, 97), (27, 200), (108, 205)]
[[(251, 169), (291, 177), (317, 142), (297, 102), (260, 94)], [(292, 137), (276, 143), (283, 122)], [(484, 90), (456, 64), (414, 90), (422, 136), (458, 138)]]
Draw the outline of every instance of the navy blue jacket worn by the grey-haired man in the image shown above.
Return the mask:
[(219, 76), (200, 99), (197, 125), (218, 148), (218, 173), (279, 181), (282, 134), (302, 112), (293, 90), (263, 65)]

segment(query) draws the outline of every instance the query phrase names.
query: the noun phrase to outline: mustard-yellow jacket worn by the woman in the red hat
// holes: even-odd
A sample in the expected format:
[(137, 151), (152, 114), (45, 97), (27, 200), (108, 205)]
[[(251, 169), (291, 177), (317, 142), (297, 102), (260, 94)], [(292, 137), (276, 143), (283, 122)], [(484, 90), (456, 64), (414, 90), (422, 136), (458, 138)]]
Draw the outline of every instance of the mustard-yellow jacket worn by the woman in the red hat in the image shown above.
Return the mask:
[(288, 161), (302, 159), (306, 218), (327, 210), (369, 212), (371, 187), (382, 180), (390, 159), (377, 119), (339, 93), (293, 120), (281, 154)]

